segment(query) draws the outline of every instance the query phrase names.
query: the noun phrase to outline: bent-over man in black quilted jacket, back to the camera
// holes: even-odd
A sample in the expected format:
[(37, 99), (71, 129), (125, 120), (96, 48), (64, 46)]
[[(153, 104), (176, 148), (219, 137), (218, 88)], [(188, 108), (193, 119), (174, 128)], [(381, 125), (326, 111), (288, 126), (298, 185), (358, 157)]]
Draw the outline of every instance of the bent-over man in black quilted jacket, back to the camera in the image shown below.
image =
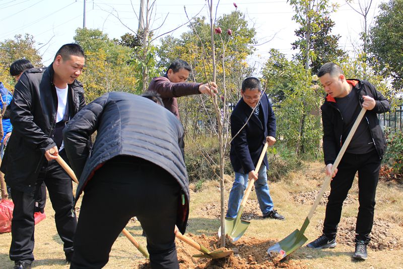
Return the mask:
[(147, 233), (151, 267), (179, 268), (174, 228), (185, 232), (189, 212), (183, 135), (162, 105), (124, 92), (102, 95), (69, 122), (63, 137), (80, 179), (76, 201), (84, 190), (71, 268), (103, 267), (133, 216)]

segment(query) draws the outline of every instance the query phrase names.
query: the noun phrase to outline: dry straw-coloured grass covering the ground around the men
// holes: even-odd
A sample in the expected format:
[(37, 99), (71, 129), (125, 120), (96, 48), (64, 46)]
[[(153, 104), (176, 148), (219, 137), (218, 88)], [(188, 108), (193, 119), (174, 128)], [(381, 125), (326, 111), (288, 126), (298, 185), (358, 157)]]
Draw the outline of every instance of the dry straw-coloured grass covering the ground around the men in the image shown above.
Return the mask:
[[(281, 240), (295, 229), (299, 229), (310, 209), (310, 204), (297, 204), (293, 196), (298, 193), (319, 190), (323, 180), (322, 163), (310, 163), (303, 171), (288, 175), (287, 180), (270, 183), (271, 194), (275, 201), (275, 208), (286, 216), (285, 221), (254, 218), (244, 236), (255, 238), (275, 238)], [(232, 178), (226, 178), (226, 199), (231, 188)], [(392, 232), (395, 238), (403, 238), (403, 186), (392, 182), (380, 182), (377, 190), (377, 204), (375, 219), (393, 223), (397, 228)], [(357, 182), (350, 191), (352, 197), (357, 194)], [(250, 199), (255, 199), (254, 193)], [(206, 203), (219, 204), (219, 183), (207, 181), (200, 191), (191, 193), (189, 226), (187, 232), (193, 234), (217, 234), (220, 226), (219, 220), (214, 216), (203, 216), (199, 208)], [(256, 201), (257, 202), (257, 201)], [(323, 222), (324, 205), (319, 205), (308, 226), (305, 235), (313, 240), (320, 235), (316, 227)], [(351, 204), (343, 208), (343, 218), (355, 217), (358, 211), (358, 201), (354, 199)], [(35, 262), (36, 268), (69, 268), (64, 262), (61, 241), (57, 236), (53, 219), (53, 210), (48, 201), (45, 212), (47, 218), (36, 226), (35, 231)], [(107, 212), (105, 218), (107, 217)], [(143, 245), (145, 238), (141, 236), (142, 230), (138, 223), (129, 223), (126, 227), (129, 232)], [(100, 235), (102, 236), (102, 235)], [(0, 268), (12, 268), (13, 262), (8, 257), (11, 234), (0, 234)], [(353, 239), (351, 239), (353, 240)], [(334, 249), (311, 250), (305, 246), (292, 253), (288, 259), (301, 260), (309, 268), (403, 268), (403, 249), (374, 251), (368, 250), (368, 260), (353, 261), (351, 255), (354, 248), (339, 244)], [(109, 263), (105, 268), (137, 268), (144, 261), (141, 254), (122, 235), (118, 237), (112, 247)]]

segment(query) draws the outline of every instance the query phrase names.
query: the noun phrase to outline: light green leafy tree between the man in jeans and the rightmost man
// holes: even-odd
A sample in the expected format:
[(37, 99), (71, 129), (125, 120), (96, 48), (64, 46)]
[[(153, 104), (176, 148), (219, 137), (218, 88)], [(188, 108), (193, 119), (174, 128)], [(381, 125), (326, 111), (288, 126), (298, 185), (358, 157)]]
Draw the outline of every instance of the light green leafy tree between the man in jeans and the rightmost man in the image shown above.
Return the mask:
[(263, 87), (275, 107), (278, 137), (296, 153), (317, 155), (322, 136), (319, 106), (324, 94), (310, 70), (272, 49), (262, 75)]

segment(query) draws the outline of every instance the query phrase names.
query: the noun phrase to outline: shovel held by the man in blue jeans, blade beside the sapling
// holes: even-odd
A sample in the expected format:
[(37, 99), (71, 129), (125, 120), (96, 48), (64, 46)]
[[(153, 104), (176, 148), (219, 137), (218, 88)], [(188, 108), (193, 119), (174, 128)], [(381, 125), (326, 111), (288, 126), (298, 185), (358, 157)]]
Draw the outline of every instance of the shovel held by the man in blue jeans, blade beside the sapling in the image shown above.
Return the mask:
[[(268, 142), (266, 141), (266, 143), (264, 144), (263, 150), (260, 153), (260, 157), (259, 157), (259, 160), (256, 165), (255, 173), (259, 172), (261, 162), (263, 161), (264, 154), (266, 153), (266, 150), (267, 150), (267, 146), (268, 146)], [(250, 222), (248, 222), (248, 221), (242, 221), (241, 216), (242, 216), (245, 204), (246, 204), (246, 200), (249, 197), (249, 194), (250, 194), (250, 191), (252, 190), (254, 182), (255, 182), (254, 179), (249, 179), (249, 184), (243, 194), (241, 205), (239, 206), (236, 218), (233, 219), (233, 218), (225, 217), (225, 232), (229, 237), (232, 238), (232, 242), (235, 242), (239, 238), (241, 238), (241, 236), (245, 233), (246, 229), (248, 229), (248, 226), (250, 224)], [(220, 226), (220, 229), (218, 230), (218, 236), (219, 237), (221, 236), (221, 226)]]

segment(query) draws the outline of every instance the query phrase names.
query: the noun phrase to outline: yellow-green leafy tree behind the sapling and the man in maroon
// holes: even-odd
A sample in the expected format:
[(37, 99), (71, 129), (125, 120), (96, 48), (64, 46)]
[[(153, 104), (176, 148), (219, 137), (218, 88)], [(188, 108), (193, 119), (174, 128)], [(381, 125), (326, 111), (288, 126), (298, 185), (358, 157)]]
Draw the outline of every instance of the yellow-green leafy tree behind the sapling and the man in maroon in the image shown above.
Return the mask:
[[(239, 100), (239, 89), (242, 80), (250, 76), (252, 68), (248, 66), (246, 58), (254, 51), (256, 43), (255, 29), (248, 25), (245, 15), (239, 11), (224, 14), (215, 21), (215, 28), (221, 28), (221, 34), (214, 34), (216, 83), (221, 90), (220, 95), (225, 102), (236, 103)], [(181, 58), (192, 67), (188, 81), (210, 81), (213, 77), (213, 59), (211, 45), (210, 23), (205, 17), (198, 17), (190, 22), (190, 30), (183, 33), (180, 38), (167, 36), (161, 40), (158, 56), (163, 69)], [(231, 34), (227, 30), (231, 29)], [(224, 88), (225, 87), (225, 88)], [(227, 93), (227, 94), (225, 94)], [(219, 99), (220, 106), (224, 102)], [(197, 122), (210, 125), (211, 131), (215, 129), (215, 117), (212, 100), (205, 96), (186, 96), (178, 99), (182, 123), (187, 131), (198, 131)], [(209, 111), (205, 113), (203, 111)]]

